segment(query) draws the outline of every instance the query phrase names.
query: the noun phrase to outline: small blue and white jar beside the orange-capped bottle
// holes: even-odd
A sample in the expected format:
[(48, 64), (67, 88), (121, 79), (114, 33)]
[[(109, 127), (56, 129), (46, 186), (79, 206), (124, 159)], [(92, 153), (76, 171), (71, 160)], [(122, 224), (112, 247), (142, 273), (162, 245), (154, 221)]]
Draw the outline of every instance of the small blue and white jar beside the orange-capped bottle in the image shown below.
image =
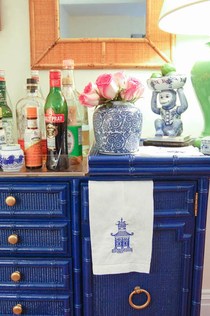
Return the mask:
[(20, 144), (2, 145), (0, 166), (3, 171), (20, 171), (24, 165), (24, 152)]

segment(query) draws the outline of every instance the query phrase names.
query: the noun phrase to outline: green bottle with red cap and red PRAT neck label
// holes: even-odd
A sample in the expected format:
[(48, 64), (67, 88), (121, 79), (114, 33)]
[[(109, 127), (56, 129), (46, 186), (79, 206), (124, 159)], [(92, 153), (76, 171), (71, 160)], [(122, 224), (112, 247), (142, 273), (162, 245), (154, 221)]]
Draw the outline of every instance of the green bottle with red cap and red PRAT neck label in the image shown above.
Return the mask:
[(45, 102), (47, 162), (49, 170), (69, 167), (67, 142), (68, 107), (61, 92), (61, 71), (50, 70), (50, 93)]

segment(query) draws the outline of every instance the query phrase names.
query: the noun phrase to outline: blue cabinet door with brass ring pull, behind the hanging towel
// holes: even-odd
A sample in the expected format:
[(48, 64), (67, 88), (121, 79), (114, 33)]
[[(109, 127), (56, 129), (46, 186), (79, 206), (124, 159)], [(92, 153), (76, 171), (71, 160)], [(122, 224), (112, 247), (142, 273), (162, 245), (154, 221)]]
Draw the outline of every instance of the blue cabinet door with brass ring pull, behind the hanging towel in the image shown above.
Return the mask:
[[(182, 188), (186, 192), (186, 198), (181, 193)], [(171, 190), (177, 192), (176, 203), (168, 201)], [(196, 182), (171, 182), (170, 185), (167, 182), (154, 183), (154, 232), (150, 273), (98, 276), (92, 274), (88, 185), (82, 184), (83, 300), (86, 316), (190, 315), (195, 231), (195, 216), (191, 209), (194, 206), (195, 192)], [(167, 203), (164, 201), (168, 201), (171, 216), (161, 216), (161, 210), (167, 211), (164, 206)], [(188, 204), (190, 207), (187, 207)], [(178, 219), (177, 214), (173, 214), (173, 205), (178, 208)], [(189, 210), (188, 214), (186, 209)], [(134, 309), (129, 304), (129, 295), (136, 286), (148, 291), (151, 296), (150, 304), (143, 310)], [(135, 294), (132, 298), (135, 305), (142, 305), (146, 300), (145, 294)]]

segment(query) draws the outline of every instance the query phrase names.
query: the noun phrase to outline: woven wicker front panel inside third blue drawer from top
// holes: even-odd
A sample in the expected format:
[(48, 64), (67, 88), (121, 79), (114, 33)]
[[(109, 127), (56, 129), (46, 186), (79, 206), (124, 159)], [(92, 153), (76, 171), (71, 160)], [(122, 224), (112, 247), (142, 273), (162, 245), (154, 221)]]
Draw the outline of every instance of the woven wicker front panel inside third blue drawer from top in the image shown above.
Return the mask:
[[(11, 274), (18, 270), (21, 273), (20, 283), (63, 283), (63, 269), (61, 267), (40, 267), (40, 266), (16, 266), (0, 267), (0, 287), (2, 282), (14, 284)], [(17, 284), (17, 283), (16, 283)]]

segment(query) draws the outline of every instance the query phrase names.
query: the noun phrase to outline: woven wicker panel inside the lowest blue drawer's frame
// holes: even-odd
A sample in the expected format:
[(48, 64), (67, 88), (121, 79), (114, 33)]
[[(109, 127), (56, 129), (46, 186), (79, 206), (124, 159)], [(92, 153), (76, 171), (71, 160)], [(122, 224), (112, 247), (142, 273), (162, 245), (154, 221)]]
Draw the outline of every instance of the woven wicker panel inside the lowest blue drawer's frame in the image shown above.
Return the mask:
[(1, 316), (14, 315), (12, 308), (21, 304), (23, 312), (21, 315), (33, 316), (63, 316), (63, 302), (62, 301), (7, 301), (0, 300)]

